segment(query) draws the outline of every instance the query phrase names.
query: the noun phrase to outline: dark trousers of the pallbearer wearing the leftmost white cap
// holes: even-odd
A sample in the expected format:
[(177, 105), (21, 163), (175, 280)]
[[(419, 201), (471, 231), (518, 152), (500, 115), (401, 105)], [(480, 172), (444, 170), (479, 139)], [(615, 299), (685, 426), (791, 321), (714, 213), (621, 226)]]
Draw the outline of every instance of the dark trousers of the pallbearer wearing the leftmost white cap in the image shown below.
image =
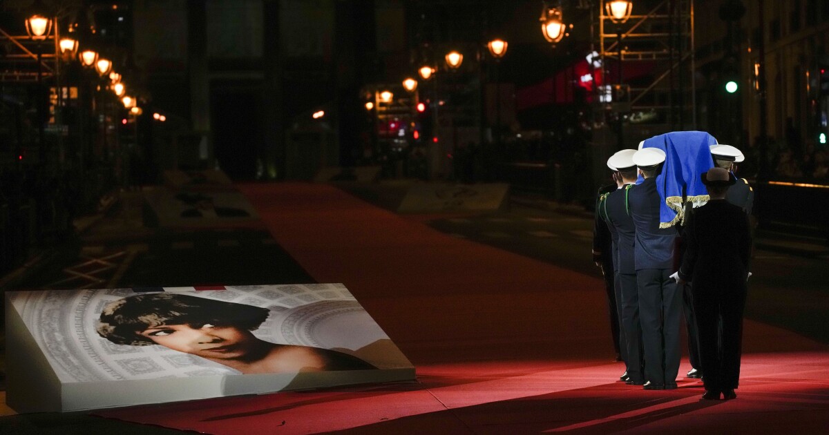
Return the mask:
[(621, 288), (619, 305), (622, 307), (622, 331), (625, 338), (625, 365), (628, 376), (636, 382), (642, 382), (644, 373), (642, 365), (642, 325), (639, 320), (639, 290), (636, 287), (635, 273), (617, 273)]

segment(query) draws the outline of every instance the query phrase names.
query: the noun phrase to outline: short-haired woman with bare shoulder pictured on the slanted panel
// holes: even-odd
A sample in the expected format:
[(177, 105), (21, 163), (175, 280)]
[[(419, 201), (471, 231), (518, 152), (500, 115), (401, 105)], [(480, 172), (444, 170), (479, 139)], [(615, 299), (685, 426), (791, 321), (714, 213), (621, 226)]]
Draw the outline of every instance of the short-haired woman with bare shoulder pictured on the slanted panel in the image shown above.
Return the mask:
[(255, 336), (269, 310), (180, 293), (146, 293), (109, 302), (98, 334), (119, 345), (160, 345), (240, 371), (299, 373), (372, 370), (337, 350), (271, 343)]

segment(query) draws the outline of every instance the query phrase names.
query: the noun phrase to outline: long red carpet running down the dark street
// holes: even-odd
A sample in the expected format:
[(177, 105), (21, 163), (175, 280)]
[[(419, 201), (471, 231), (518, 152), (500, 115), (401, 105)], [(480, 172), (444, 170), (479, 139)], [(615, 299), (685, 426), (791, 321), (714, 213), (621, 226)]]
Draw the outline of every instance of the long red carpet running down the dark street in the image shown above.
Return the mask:
[[(331, 186), (240, 186), (320, 283), (345, 283), (418, 382), (123, 408), (203, 433), (826, 433), (829, 346), (746, 321), (739, 399), (613, 382), (599, 278), (440, 234)], [(584, 255), (586, 253), (574, 253)], [(750, 296), (749, 296), (750, 297)], [(684, 362), (681, 373), (690, 369)]]

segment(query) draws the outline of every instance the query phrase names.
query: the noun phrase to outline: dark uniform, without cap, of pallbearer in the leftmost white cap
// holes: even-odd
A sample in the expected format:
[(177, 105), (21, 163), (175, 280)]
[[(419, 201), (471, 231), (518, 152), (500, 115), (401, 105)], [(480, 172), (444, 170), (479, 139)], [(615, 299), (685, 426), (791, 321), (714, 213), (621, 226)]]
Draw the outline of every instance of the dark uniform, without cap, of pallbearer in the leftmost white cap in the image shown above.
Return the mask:
[(641, 385), (642, 373), (642, 326), (639, 323), (639, 295), (636, 286), (636, 265), (633, 261), (636, 226), (628, 210), (628, 196), (633, 184), (611, 192), (604, 200), (599, 212), (615, 234), (613, 263), (619, 288), (619, 304), (622, 307), (622, 331), (627, 348), (625, 363), (628, 369), (628, 384)]

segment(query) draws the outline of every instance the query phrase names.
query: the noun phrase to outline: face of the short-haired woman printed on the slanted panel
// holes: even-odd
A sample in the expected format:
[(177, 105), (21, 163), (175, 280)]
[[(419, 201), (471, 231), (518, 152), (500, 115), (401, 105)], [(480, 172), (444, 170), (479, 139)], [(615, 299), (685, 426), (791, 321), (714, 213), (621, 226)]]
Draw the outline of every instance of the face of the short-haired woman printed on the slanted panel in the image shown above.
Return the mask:
[(239, 358), (256, 341), (250, 331), (235, 326), (159, 325), (139, 332), (157, 345), (211, 360)]

